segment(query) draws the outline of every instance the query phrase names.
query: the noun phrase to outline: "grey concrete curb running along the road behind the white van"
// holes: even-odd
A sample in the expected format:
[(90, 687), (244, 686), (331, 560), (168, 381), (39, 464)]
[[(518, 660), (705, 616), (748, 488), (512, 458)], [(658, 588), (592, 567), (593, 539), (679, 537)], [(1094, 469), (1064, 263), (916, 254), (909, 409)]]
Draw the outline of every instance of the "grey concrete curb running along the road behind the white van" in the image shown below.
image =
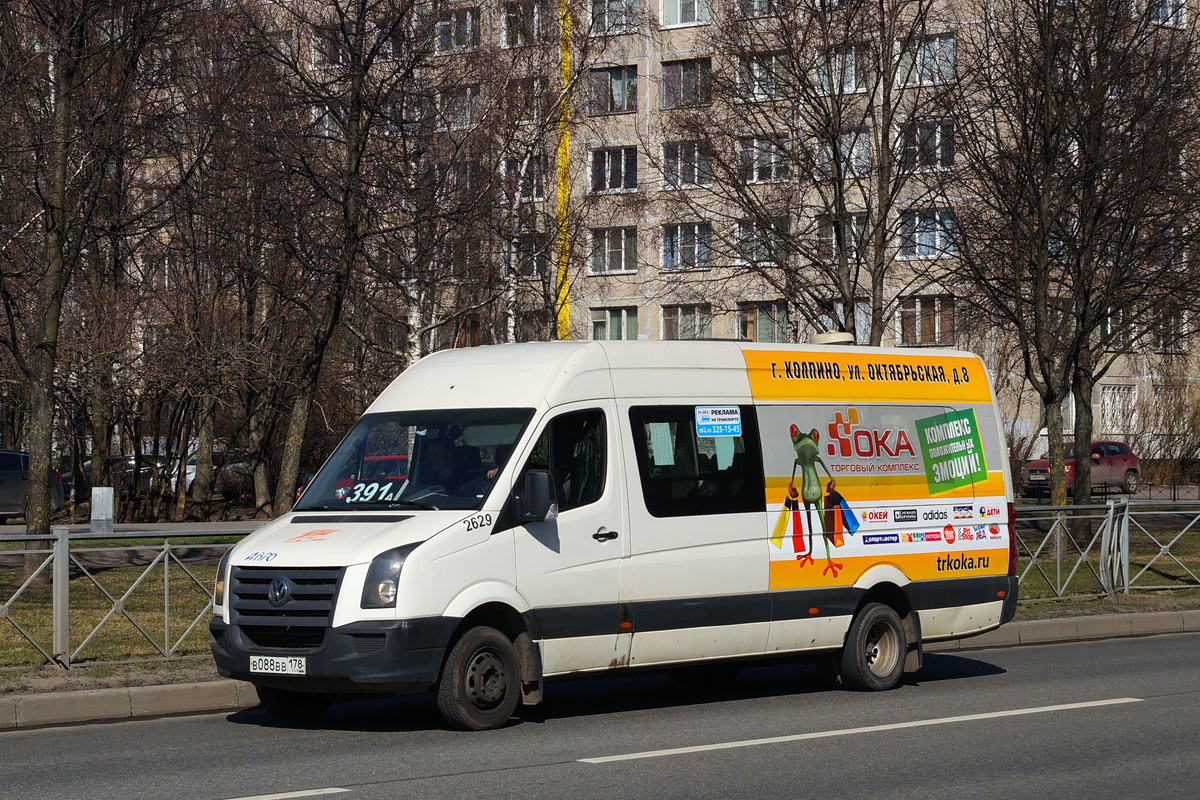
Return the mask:
[[(1117, 639), (1200, 632), (1200, 609), (1100, 614), (1009, 622), (967, 639), (934, 642), (926, 652), (954, 652), (1030, 644)], [(95, 688), (0, 697), (0, 732), (80, 722), (144, 720), (181, 714), (235, 711), (258, 705), (253, 685), (240, 680)]]

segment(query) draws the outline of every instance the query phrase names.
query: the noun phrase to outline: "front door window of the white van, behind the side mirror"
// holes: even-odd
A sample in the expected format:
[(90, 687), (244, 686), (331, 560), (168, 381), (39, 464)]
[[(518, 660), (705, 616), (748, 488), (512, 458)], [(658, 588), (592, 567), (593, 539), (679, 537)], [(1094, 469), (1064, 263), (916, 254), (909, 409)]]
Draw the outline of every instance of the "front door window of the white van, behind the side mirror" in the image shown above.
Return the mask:
[(606, 445), (600, 409), (554, 417), (534, 443), (517, 486), (524, 482), (524, 474), (530, 469), (548, 469), (554, 476), (559, 512), (595, 503), (604, 494)]

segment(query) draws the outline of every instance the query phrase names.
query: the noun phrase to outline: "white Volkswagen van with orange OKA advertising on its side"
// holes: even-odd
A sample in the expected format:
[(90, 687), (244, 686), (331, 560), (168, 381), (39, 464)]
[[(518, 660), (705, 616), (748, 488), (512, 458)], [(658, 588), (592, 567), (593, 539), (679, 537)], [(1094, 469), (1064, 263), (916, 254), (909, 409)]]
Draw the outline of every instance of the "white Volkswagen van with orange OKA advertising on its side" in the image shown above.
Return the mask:
[(442, 351), (226, 555), (210, 643), (284, 717), (432, 690), (482, 729), (551, 678), (821, 651), (886, 690), (1013, 618), (1012, 500), (967, 353)]

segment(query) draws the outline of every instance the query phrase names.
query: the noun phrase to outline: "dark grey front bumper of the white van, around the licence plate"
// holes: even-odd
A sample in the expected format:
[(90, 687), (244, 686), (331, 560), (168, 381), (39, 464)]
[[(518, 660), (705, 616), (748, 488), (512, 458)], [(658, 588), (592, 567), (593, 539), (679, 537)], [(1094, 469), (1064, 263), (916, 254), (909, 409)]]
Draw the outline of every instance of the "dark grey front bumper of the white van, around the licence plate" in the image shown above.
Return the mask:
[[(256, 646), (236, 625), (221, 618), (209, 622), (209, 645), (217, 672), (256, 686), (299, 692), (422, 692), (442, 670), (450, 636), (460, 620), (427, 616), (397, 621), (352, 622), (325, 631), (312, 650)], [(304, 656), (306, 675), (250, 672), (250, 657)]]

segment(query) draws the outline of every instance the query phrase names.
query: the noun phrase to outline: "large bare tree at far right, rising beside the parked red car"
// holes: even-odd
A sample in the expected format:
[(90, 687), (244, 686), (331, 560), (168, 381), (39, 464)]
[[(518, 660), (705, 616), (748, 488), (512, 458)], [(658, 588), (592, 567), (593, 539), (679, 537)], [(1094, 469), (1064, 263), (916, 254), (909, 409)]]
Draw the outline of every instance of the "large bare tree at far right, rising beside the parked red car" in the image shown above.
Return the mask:
[[(1146, 336), (1156, 308), (1194, 291), (1163, 258), (1186, 242), (1195, 213), (1178, 158), (1196, 136), (1194, 37), (1162, 24), (1157, 8), (1001, 0), (964, 10), (980, 12), (959, 29), (970, 80), (944, 98), (958, 133), (944, 186), (961, 199), (959, 296), (1025, 345), (1058, 504), (1064, 398), (1074, 387), (1086, 452), (1094, 380), (1112, 363), (1105, 344)], [(1082, 500), (1088, 467), (1076, 458)]]

